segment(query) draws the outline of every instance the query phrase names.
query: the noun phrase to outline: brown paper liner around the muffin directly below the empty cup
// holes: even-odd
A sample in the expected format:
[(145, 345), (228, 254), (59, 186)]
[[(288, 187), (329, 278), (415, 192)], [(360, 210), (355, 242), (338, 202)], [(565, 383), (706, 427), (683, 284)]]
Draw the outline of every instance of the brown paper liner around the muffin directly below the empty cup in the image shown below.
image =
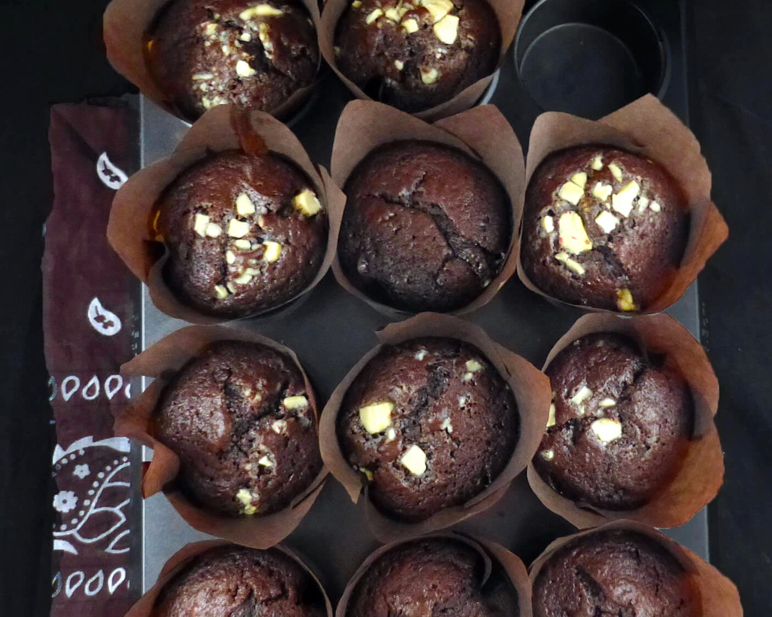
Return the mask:
[[(585, 120), (567, 113), (542, 113), (533, 123), (526, 160), (526, 185), (533, 172), (551, 153), (572, 146), (607, 144), (654, 160), (669, 171), (686, 195), (690, 214), (689, 241), (669, 287), (646, 306), (644, 314), (661, 312), (686, 292), (706, 261), (729, 235), (716, 204), (710, 201), (711, 175), (707, 161), (699, 150), (694, 133), (655, 96), (647, 94), (601, 120)], [(520, 230), (522, 238), (523, 230)], [(542, 292), (530, 281), (520, 264), (518, 251), (517, 275), (532, 292), (555, 302), (557, 298)], [(574, 305), (578, 309), (609, 312), (591, 306)]]

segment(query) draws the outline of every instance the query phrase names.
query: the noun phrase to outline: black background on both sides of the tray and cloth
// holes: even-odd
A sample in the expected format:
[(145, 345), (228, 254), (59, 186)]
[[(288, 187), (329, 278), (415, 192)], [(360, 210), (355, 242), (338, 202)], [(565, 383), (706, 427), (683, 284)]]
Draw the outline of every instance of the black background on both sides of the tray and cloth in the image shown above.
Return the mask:
[[(662, 0), (675, 2), (675, 0)], [(50, 451), (42, 356), (42, 224), (52, 202), (51, 103), (133, 92), (101, 45), (105, 0), (0, 2), (0, 614), (48, 615)], [(699, 278), (703, 343), (721, 384), (726, 481), (711, 561), (746, 615), (772, 605), (772, 5), (686, 0), (692, 130), (730, 240)], [(513, 284), (517, 284), (516, 282)]]

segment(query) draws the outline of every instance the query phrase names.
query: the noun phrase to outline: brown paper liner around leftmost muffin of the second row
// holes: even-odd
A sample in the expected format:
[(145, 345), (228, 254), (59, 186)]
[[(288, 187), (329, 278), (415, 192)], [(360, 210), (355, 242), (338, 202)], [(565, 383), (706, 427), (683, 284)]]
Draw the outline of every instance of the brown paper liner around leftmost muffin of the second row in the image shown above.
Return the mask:
[[(168, 256), (163, 255), (159, 258), (159, 243), (151, 238), (147, 221), (150, 220), (151, 211), (164, 188), (183, 170), (204, 158), (207, 153), (240, 149), (239, 137), (231, 123), (231, 114), (232, 108), (228, 105), (209, 110), (191, 126), (169, 157), (145, 167), (130, 177), (117, 191), (110, 210), (110, 221), (107, 223), (107, 240), (130, 271), (147, 284), (154, 305), (166, 315), (185, 319), (191, 323), (214, 324), (226, 322), (229, 319), (198, 312), (183, 304), (174, 295), (163, 277)], [(346, 196), (335, 186), (327, 170), (311, 162), (297, 137), (279, 120), (267, 113), (250, 112), (249, 121), (252, 129), (262, 137), (269, 150), (283, 154), (306, 173), (313, 183), (329, 221), (327, 251), (319, 271), (303, 292), (282, 305), (286, 307), (315, 287), (330, 268), (337, 247), (340, 217), (346, 203)], [(259, 315), (275, 314), (280, 308), (274, 307)]]

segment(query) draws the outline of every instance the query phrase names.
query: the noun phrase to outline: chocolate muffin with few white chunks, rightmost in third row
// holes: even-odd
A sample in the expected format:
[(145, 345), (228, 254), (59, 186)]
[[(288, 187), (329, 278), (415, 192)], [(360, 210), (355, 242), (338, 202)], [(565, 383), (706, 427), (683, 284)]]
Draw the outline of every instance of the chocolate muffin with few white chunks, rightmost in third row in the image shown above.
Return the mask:
[(662, 490), (694, 427), (689, 387), (617, 334), (574, 341), (547, 367), (553, 393), (533, 459), (555, 491), (579, 504), (632, 510)]

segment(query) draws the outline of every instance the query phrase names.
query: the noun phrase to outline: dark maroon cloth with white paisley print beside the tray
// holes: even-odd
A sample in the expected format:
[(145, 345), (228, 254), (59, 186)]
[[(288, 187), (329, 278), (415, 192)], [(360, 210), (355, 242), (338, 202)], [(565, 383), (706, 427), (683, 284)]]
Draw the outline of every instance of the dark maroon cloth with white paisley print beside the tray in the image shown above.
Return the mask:
[[(138, 285), (107, 244), (110, 204), (137, 167), (137, 116), (124, 101), (57, 105), (49, 138), (54, 204), (43, 256), (43, 329), (56, 420), (52, 615), (118, 617), (133, 572), (130, 443), (113, 437), (119, 373), (137, 347)], [(136, 498), (136, 499), (135, 499)], [(137, 560), (139, 555), (137, 553)]]

